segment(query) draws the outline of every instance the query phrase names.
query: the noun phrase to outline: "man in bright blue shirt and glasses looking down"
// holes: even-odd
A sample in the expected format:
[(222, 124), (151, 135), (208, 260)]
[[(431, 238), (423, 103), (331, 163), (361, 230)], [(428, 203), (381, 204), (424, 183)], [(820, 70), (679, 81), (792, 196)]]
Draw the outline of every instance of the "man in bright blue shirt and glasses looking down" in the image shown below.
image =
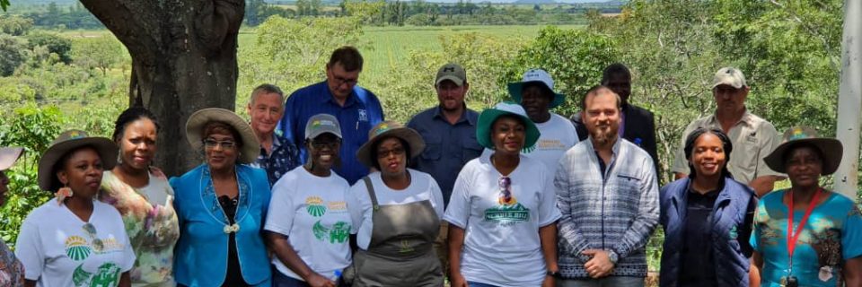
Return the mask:
[[(299, 147), (300, 161), (307, 160), (303, 144), (308, 118), (326, 113), (341, 124), (341, 165), (335, 172), (351, 185), (368, 174), (368, 168), (356, 160), (356, 151), (368, 141), (371, 127), (383, 121), (383, 108), (373, 92), (356, 85), (362, 72), (362, 55), (345, 46), (332, 52), (326, 64), (326, 81), (294, 91), (285, 103), (285, 116), (278, 129)], [(353, 128), (351, 128), (353, 127)]]

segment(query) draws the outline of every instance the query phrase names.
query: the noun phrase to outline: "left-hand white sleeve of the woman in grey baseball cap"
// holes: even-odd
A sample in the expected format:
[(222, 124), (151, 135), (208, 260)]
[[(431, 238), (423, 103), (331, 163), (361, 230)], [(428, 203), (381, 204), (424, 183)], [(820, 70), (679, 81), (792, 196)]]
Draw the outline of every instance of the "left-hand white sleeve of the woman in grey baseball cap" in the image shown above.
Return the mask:
[(269, 200), (267, 223), (263, 229), (290, 236), (290, 229), (294, 226), (293, 197), (296, 191), (291, 188), (295, 180), (286, 180), (287, 178), (290, 177), (278, 179), (276, 184), (272, 186), (272, 199)]

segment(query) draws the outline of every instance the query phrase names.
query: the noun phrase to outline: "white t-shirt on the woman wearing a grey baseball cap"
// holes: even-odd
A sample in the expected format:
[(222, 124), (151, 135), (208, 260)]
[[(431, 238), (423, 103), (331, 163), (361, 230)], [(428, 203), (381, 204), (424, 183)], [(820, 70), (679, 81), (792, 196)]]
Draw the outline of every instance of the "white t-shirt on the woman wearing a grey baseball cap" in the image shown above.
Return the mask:
[[(349, 188), (335, 172), (321, 178), (303, 167), (290, 170), (272, 187), (264, 229), (286, 235), (306, 265), (335, 279), (336, 271), (350, 265), (350, 213), (345, 202)], [(278, 257), (272, 264), (282, 274), (303, 280)]]

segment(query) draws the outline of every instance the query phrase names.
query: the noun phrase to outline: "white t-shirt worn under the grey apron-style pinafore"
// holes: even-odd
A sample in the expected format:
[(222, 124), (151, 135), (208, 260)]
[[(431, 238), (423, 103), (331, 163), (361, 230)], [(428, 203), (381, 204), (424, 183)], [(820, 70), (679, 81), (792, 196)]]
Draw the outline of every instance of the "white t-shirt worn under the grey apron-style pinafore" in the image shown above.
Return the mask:
[[(380, 171), (374, 171), (368, 175), (374, 186), (377, 204), (412, 204), (429, 200), (437, 216), (443, 218), (443, 193), (440, 192), (440, 186), (437, 186), (434, 178), (422, 171), (413, 169), (407, 169), (407, 171), (410, 173), (410, 186), (403, 190), (386, 187), (383, 178), (380, 178)], [(350, 192), (347, 194), (349, 203), (347, 208), (350, 210), (354, 225), (351, 232), (356, 234), (356, 245), (363, 250), (367, 250), (368, 245), (371, 244), (371, 234), (374, 230), (374, 221), (372, 221), (374, 211), (367, 188), (365, 180), (359, 179), (353, 187), (350, 187)]]

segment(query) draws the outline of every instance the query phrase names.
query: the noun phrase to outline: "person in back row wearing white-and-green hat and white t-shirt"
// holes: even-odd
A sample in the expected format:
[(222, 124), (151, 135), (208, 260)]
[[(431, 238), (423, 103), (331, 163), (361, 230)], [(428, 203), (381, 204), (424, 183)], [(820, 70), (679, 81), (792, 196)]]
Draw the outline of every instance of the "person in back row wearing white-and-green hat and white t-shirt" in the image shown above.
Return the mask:
[(553, 176), (559, 165), (559, 158), (577, 143), (575, 126), (566, 117), (550, 112), (566, 100), (563, 94), (554, 91), (554, 79), (548, 72), (532, 69), (523, 74), (518, 83), (509, 83), (509, 94), (521, 104), (541, 135), (536, 149), (526, 153), (548, 167)]

